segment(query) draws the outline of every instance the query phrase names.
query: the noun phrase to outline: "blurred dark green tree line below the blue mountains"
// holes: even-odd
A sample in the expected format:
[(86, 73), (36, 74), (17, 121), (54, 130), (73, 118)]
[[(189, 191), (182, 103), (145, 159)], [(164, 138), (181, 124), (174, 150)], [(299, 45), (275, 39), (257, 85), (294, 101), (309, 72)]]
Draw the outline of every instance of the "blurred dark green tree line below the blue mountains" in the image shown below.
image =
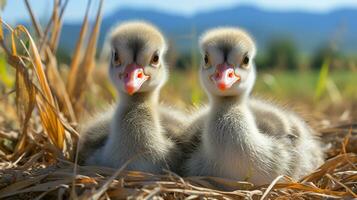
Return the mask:
[[(172, 50), (169, 51), (167, 60), (170, 66), (175, 66), (177, 69), (186, 70), (193, 66), (198, 66), (198, 63), (193, 63), (192, 60), (197, 60), (201, 55), (195, 50), (195, 53), (190, 51), (179, 53), (175, 50), (175, 44), (171, 44)], [(196, 58), (193, 59), (193, 56)], [(298, 49), (296, 44), (287, 38), (272, 40), (265, 50), (258, 51), (255, 59), (256, 65), (260, 70), (320, 70), (323, 63), (328, 60), (331, 69), (356, 69), (357, 57), (344, 55), (339, 52), (333, 44), (325, 43), (313, 51), (309, 56), (304, 56)]]

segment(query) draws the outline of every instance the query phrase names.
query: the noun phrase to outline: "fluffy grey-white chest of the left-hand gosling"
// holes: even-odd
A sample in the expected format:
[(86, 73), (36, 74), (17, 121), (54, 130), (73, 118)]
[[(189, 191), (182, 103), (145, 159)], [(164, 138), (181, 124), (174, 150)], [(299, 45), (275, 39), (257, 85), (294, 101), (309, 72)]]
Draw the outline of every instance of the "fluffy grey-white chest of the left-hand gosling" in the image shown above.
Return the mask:
[(110, 135), (98, 151), (101, 165), (121, 167), (130, 161), (126, 169), (158, 173), (166, 168), (173, 142), (163, 135), (155, 116), (143, 112), (139, 119), (134, 111), (118, 114), (111, 123)]

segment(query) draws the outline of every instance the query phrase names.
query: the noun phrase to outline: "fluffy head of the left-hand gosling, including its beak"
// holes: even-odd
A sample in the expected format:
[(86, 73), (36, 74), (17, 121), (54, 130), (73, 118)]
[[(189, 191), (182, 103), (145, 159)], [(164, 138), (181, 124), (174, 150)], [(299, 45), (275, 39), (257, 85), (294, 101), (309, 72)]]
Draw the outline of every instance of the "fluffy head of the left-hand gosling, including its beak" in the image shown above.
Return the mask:
[(121, 94), (152, 92), (167, 79), (163, 60), (167, 45), (160, 31), (146, 22), (127, 22), (110, 35), (109, 75)]

